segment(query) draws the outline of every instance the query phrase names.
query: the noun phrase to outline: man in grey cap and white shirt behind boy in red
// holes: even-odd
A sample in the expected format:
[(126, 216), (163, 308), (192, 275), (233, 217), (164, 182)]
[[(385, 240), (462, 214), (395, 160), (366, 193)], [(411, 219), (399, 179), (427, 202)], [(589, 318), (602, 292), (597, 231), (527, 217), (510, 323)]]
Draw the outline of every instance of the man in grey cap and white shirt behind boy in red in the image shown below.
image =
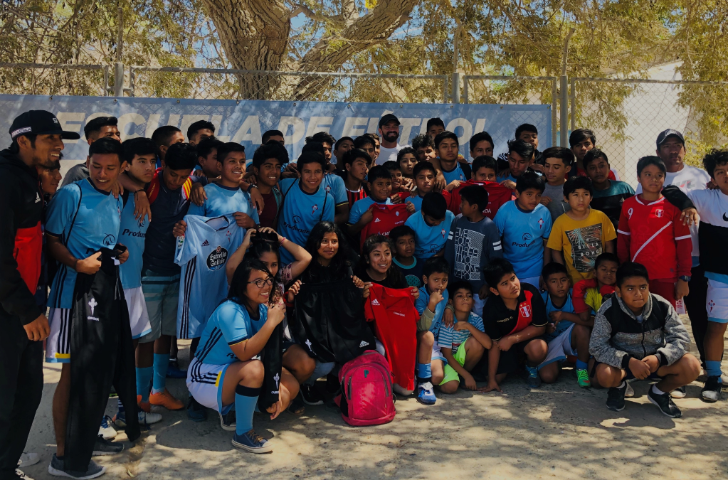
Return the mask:
[[(677, 185), (684, 192), (704, 190), (711, 181), (710, 175), (703, 169), (686, 165), (685, 153), (685, 138), (677, 130), (667, 129), (657, 135), (657, 156), (665, 162), (665, 168), (668, 169), (665, 174), (665, 186)], [(637, 185), (636, 194), (639, 193), (642, 193), (642, 185)], [(703, 338), (708, 328), (708, 312), (705, 310), (708, 280), (705, 279), (705, 269), (700, 265), (697, 225), (690, 227), (690, 236), (692, 236), (692, 275), (687, 279), (690, 293), (684, 297), (684, 301), (690, 316), (695, 346), (700, 352), (700, 360), (704, 362)], [(675, 393), (673, 392), (673, 396), (676, 396)]]

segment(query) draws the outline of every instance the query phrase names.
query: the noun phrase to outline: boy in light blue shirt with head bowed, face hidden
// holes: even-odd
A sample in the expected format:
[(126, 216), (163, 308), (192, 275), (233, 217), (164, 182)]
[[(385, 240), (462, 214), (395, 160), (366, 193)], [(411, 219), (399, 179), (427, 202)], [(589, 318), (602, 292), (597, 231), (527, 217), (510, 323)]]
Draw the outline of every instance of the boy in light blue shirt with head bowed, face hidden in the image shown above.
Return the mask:
[(443, 255), (454, 219), (455, 215), (447, 209), (441, 193), (430, 192), (424, 196), (421, 211), (414, 212), (405, 222), (415, 232), (414, 256), (418, 260)]

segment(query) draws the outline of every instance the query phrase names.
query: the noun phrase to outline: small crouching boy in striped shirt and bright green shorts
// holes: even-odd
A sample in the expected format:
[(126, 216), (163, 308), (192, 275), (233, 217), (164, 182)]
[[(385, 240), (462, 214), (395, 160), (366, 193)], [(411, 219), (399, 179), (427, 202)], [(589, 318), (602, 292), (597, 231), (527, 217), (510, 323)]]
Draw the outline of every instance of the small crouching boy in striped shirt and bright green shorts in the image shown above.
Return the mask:
[[(460, 385), (460, 377), (465, 388), (475, 390), (478, 385), (475, 384), (475, 378), (470, 372), (483, 358), (483, 353), (493, 347), (493, 342), (484, 332), (483, 319), (472, 312), (474, 302), (470, 283), (464, 280), (456, 281), (451, 284), (449, 290), (455, 308), (455, 318), (451, 327), (443, 325), (438, 334), (438, 348), (447, 361), (443, 367), (440, 390), (443, 393), (455, 393)], [(436, 368), (439, 368), (439, 364)]]

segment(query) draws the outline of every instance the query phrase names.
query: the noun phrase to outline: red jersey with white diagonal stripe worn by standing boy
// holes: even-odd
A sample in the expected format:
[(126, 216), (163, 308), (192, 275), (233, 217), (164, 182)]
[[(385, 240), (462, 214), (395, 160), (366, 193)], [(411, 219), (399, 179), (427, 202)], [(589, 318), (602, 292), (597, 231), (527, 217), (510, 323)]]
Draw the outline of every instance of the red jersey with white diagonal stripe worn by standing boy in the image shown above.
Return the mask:
[(625, 199), (617, 228), (620, 262), (641, 263), (651, 280), (677, 281), (690, 275), (692, 240), (681, 210), (662, 199), (644, 203), (641, 195)]

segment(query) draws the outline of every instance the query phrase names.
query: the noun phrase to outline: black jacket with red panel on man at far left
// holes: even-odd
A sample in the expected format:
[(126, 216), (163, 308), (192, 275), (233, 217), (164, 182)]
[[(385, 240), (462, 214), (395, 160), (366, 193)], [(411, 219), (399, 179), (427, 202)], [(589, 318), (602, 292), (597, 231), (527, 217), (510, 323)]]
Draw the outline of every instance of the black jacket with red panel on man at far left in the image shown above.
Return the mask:
[(43, 199), (35, 167), (0, 151), (0, 321), (31, 323), (41, 273)]

